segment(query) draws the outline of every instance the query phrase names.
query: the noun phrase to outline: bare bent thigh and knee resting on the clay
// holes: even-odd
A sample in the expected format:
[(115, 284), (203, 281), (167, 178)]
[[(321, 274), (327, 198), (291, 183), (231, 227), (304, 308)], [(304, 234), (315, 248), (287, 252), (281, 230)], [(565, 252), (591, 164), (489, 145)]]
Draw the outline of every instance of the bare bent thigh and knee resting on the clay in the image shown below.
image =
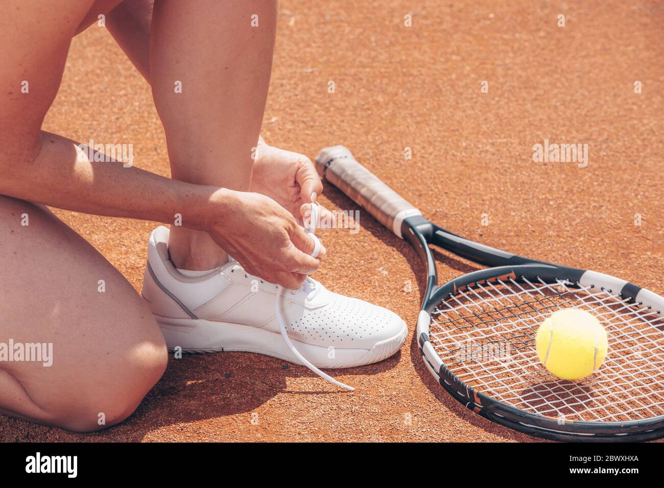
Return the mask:
[(0, 361), (0, 412), (82, 431), (124, 420), (167, 361), (143, 299), (43, 206), (0, 196), (0, 229), (0, 343), (52, 345), (50, 361)]

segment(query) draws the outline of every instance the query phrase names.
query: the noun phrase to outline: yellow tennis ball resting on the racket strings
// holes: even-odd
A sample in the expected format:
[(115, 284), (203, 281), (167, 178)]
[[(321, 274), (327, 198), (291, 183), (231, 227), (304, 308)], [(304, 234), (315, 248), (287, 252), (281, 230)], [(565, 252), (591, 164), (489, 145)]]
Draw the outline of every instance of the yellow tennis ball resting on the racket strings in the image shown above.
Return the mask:
[(542, 322), (535, 336), (542, 364), (565, 380), (585, 378), (600, 368), (608, 347), (600, 321), (579, 309), (555, 311)]

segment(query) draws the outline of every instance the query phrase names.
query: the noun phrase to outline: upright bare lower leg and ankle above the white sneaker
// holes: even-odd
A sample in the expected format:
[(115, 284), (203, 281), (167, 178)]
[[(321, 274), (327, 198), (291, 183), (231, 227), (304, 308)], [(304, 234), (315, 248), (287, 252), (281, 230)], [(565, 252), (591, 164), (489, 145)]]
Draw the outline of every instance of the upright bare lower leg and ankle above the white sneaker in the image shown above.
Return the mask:
[[(150, 80), (173, 179), (248, 191), (276, 23), (276, 0), (155, 2)], [(206, 232), (182, 226), (171, 226), (169, 253), (187, 270), (226, 262)]]

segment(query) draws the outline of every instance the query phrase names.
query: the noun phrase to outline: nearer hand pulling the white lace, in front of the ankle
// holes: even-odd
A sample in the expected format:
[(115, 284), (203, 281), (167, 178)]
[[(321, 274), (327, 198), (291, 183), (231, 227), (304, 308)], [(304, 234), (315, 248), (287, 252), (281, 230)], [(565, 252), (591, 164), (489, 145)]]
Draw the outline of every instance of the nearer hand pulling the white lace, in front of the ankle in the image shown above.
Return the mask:
[(318, 269), (315, 243), (295, 218), (258, 193), (219, 189), (210, 196), (205, 230), (246, 270), (270, 283), (299, 288)]

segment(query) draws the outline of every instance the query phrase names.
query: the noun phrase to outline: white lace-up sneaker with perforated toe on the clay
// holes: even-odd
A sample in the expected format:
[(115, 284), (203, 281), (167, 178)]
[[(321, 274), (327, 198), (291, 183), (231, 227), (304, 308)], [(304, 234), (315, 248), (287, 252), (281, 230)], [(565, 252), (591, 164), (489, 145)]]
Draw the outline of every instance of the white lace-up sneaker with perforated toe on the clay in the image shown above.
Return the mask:
[[(164, 226), (150, 236), (143, 298), (169, 349), (248, 351), (302, 364), (280, 333), (277, 285), (246, 274), (234, 260), (205, 276), (185, 276), (169, 259), (168, 236)], [(406, 340), (406, 323), (396, 313), (332, 293), (311, 278), (300, 289), (283, 294), (288, 337), (319, 368), (377, 363)]]

